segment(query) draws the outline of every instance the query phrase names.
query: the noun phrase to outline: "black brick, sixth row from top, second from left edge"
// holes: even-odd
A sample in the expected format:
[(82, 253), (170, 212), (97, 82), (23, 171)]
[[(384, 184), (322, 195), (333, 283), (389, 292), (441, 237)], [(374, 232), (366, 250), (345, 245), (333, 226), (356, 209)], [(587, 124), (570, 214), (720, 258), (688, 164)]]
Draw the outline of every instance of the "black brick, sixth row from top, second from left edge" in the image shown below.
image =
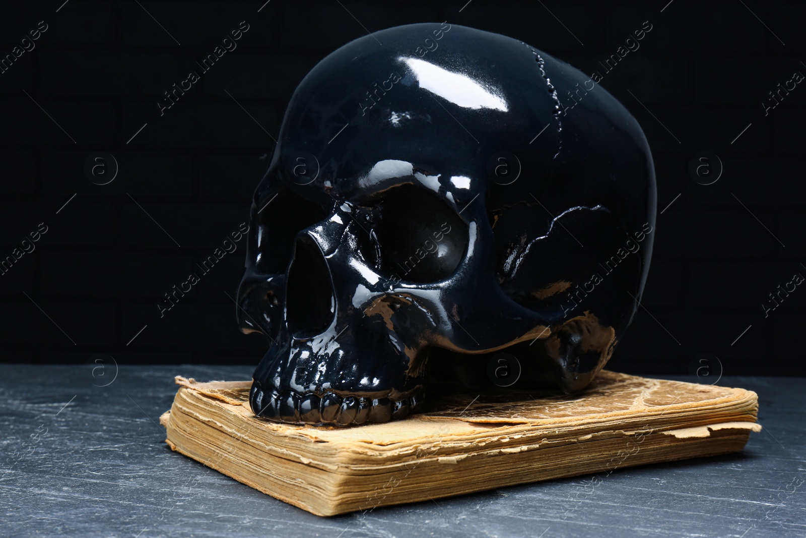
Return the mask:
[(156, 302), (194, 267), (192, 258), (182, 253), (43, 252), (42, 256), (43, 293), (60, 297)]

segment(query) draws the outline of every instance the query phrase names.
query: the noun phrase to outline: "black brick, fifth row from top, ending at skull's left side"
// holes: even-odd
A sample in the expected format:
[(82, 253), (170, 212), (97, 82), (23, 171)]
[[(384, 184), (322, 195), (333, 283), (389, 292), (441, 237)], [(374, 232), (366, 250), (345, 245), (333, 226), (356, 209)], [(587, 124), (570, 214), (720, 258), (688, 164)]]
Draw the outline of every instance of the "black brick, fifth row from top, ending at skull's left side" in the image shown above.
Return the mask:
[[(167, 232), (181, 245), (183, 252), (189, 248), (197, 249), (206, 257), (215, 248), (222, 247), (224, 240), (231, 240), (231, 233), (238, 231), (241, 223), (248, 224), (249, 219), (248, 201), (227, 205), (137, 202), (142, 209), (134, 202), (122, 206), (121, 244), (126, 247), (167, 247), (173, 250), (176, 244), (166, 235)], [(235, 245), (240, 249), (244, 244), (242, 238)]]

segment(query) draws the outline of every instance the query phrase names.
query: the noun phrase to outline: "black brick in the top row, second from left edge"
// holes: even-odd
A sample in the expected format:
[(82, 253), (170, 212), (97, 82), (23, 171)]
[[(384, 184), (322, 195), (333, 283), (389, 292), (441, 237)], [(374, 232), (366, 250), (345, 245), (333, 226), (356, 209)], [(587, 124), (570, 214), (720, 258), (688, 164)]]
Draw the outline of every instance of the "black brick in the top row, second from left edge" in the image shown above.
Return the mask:
[[(274, 42), (272, 23), (276, 20), (276, 10), (271, 3), (260, 13), (251, 4), (241, 2), (140, 3), (142, 7), (128, 2), (121, 6), (123, 44), (178, 49), (178, 41), (183, 48), (198, 48), (207, 54), (224, 38), (231, 38), (231, 31), (238, 30), (243, 20), (249, 29), (236, 41), (238, 48), (233, 52), (242, 46), (270, 47)], [(225, 56), (230, 53), (226, 52)]]

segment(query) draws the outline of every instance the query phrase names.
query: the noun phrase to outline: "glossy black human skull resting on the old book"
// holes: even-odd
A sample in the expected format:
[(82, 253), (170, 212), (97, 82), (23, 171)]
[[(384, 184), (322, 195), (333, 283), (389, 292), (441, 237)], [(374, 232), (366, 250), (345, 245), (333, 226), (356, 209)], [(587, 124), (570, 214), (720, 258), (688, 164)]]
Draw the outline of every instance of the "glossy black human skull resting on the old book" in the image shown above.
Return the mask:
[[(441, 41), (424, 54), (424, 38)], [(237, 311), (270, 346), (256, 415), (402, 418), (433, 355), (471, 385), (502, 349), (522, 386), (591, 382), (637, 309), (656, 194), (638, 123), (603, 88), (580, 94), (587, 80), (438, 23), (365, 36), (310, 71), (251, 206)]]

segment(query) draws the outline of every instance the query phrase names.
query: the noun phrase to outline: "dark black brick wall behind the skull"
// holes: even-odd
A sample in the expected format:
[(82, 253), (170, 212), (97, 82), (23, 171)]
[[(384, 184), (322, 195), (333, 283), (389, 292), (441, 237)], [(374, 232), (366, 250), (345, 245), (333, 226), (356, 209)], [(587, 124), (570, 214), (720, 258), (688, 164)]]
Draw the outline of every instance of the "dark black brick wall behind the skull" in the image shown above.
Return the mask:
[[(226, 296), (243, 240), (163, 318), (156, 302), (247, 221), (297, 83), (367, 30), (447, 20), (592, 73), (649, 21), (601, 82), (646, 132), (659, 192), (645, 308), (609, 368), (694, 373), (708, 353), (713, 374), (806, 374), (806, 286), (762, 308), (806, 275), (806, 82), (762, 107), (806, 74), (800, 2), (141, 3), (0, 3), (0, 57), (48, 24), (0, 73), (0, 259), (48, 226), (0, 275), (0, 361), (256, 364), (264, 340), (240, 334)], [(160, 117), (163, 92), (244, 20), (238, 48)], [(98, 151), (119, 166), (105, 186), (85, 176)], [(724, 165), (713, 185), (688, 173), (701, 151)]]

